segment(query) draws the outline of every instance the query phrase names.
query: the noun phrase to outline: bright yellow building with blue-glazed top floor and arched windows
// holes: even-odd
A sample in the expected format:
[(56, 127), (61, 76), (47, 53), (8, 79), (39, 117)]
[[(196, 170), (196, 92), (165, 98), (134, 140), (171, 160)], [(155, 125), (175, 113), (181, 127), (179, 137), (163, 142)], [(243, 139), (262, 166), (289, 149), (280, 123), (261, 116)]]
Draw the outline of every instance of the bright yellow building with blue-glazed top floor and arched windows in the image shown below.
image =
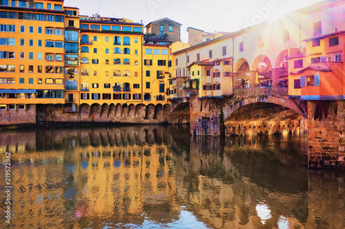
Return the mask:
[(80, 103), (142, 103), (143, 25), (83, 17), (80, 30)]

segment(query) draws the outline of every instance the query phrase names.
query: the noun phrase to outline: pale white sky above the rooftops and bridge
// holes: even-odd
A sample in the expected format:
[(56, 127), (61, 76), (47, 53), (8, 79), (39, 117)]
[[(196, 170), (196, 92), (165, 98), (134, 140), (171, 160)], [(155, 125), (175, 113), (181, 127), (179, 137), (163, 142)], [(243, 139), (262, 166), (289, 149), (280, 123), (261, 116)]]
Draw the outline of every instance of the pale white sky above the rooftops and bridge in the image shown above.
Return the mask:
[(205, 32), (234, 32), (322, 0), (65, 0), (64, 6), (79, 8), (79, 14), (127, 18), (144, 26), (168, 17), (181, 23), (181, 40), (188, 42), (187, 28)]

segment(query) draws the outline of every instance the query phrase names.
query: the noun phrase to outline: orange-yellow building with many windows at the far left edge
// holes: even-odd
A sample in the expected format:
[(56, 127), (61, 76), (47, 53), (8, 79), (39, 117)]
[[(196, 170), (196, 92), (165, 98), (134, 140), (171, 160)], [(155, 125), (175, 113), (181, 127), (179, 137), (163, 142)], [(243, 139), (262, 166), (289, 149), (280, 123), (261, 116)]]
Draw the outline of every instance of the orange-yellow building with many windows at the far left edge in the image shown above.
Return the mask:
[(63, 1), (1, 1), (0, 14), (0, 109), (64, 103)]

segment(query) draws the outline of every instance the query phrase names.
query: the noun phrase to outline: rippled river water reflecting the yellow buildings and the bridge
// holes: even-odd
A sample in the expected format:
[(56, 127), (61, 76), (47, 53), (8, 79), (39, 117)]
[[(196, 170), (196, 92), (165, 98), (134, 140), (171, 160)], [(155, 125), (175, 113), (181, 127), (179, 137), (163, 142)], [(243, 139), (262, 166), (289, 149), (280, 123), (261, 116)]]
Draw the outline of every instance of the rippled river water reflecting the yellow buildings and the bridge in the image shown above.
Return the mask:
[(1, 131), (0, 225), (345, 228), (345, 173), (308, 171), (307, 151), (307, 135), (194, 138), (188, 126)]

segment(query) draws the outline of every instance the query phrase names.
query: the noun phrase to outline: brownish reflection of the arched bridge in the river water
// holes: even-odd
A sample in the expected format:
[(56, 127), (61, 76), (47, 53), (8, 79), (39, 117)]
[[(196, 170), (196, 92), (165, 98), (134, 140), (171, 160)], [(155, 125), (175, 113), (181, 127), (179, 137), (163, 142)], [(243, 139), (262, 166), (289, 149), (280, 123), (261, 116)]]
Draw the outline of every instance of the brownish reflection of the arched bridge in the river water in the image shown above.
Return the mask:
[[(224, 147), (221, 138), (194, 138), (188, 159), (177, 163), (184, 168), (176, 170), (178, 197), (213, 228), (344, 228), (344, 174), (291, 170), (306, 156), (295, 153), (303, 138), (258, 139), (226, 139)], [(329, 184), (324, 193), (324, 179), (335, 190)]]

